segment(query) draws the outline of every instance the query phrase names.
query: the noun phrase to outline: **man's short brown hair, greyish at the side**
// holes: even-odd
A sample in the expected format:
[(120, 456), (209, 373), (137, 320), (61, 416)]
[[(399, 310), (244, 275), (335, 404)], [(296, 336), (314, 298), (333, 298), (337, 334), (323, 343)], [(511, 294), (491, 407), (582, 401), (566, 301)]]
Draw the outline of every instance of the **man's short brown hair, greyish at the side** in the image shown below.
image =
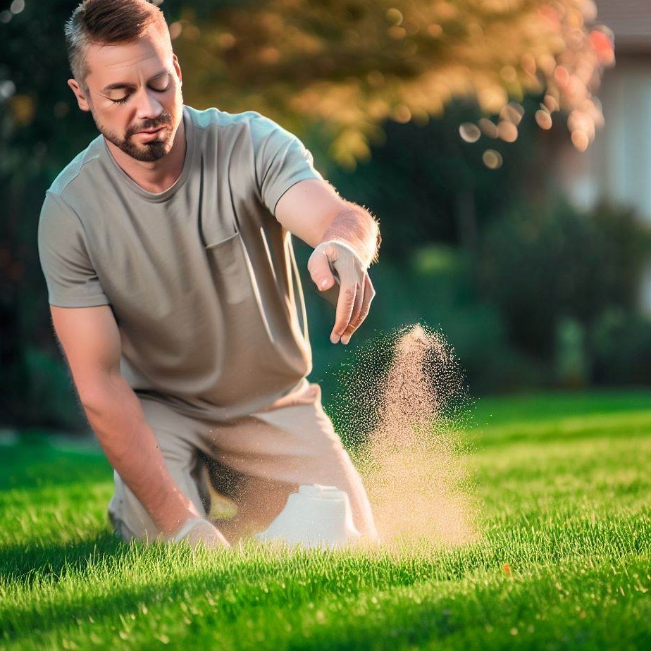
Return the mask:
[(169, 39), (163, 12), (149, 0), (84, 0), (79, 4), (65, 27), (70, 71), (77, 83), (86, 85), (89, 44), (132, 41), (149, 25), (156, 25)]

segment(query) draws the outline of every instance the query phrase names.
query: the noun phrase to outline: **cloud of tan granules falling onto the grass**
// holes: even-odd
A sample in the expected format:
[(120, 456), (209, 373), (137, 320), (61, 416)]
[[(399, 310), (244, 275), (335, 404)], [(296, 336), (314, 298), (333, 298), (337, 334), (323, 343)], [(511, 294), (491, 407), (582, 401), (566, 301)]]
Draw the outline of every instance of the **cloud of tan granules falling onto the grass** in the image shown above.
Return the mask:
[(459, 438), (469, 401), (444, 337), (403, 328), (371, 342), (342, 378), (345, 400), (334, 419), (354, 447), (383, 544), (475, 539)]

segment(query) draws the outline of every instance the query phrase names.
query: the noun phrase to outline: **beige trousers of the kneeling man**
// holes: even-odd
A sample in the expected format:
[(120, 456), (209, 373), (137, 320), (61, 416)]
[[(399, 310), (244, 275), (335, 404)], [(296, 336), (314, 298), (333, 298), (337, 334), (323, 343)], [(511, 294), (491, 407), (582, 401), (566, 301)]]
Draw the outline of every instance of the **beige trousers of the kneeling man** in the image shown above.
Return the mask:
[[(271, 409), (228, 423), (190, 418), (150, 398), (140, 402), (174, 481), (230, 543), (266, 529), (290, 493), (314, 483), (345, 490), (356, 528), (376, 538), (366, 490), (323, 411), (319, 385), (304, 380)], [(116, 533), (160, 540), (117, 471), (113, 478), (109, 519)]]

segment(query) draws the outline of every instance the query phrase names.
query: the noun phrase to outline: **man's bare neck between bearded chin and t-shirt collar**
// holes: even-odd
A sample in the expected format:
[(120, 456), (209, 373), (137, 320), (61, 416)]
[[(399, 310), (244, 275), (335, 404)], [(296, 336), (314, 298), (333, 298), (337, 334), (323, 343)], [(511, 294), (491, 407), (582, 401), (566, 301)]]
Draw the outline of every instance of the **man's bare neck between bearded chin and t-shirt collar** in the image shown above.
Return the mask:
[(144, 162), (133, 159), (116, 147), (109, 140), (104, 139), (113, 159), (123, 169), (124, 173), (137, 185), (147, 192), (165, 192), (168, 187), (180, 177), (185, 163), (185, 125), (181, 119), (174, 135), (174, 142), (169, 154), (158, 161)]

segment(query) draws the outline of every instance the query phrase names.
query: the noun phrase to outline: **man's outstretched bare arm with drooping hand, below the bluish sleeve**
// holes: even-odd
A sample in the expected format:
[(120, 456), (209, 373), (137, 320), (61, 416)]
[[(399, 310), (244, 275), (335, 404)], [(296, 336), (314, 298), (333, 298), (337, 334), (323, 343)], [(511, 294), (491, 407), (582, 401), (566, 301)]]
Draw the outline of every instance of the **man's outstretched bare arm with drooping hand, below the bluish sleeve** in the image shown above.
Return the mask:
[(358, 204), (342, 199), (321, 179), (292, 185), (278, 200), (275, 218), (292, 235), (314, 247), (307, 267), (318, 290), (327, 292), (337, 280), (340, 283), (330, 341), (347, 344), (375, 296), (368, 267), (378, 258), (376, 219)]

